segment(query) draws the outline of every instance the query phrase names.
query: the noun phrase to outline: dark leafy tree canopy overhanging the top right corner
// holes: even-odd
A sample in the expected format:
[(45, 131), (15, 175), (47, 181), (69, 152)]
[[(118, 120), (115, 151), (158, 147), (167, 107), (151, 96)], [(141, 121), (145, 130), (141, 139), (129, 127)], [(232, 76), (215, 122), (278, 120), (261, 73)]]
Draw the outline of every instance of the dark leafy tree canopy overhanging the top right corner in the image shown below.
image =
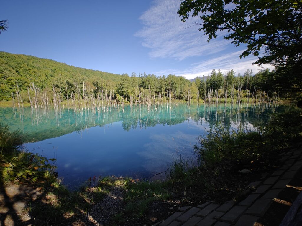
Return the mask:
[(235, 46), (247, 44), (240, 58), (259, 56), (265, 46), (268, 54), (256, 63), (279, 65), (289, 59), (300, 61), (301, 9), (300, 0), (182, 0), (178, 14), (183, 22), (190, 14), (199, 16), (201, 21), (196, 24), (208, 41), (217, 37), (217, 31), (226, 30), (224, 39), (231, 39)]

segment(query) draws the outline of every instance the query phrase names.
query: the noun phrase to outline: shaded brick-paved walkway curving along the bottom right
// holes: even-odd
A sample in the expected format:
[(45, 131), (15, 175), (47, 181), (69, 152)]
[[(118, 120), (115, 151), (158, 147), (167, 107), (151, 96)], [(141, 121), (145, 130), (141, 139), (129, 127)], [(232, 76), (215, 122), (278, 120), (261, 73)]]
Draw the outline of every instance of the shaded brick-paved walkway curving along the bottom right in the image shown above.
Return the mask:
[(261, 181), (249, 184), (249, 195), (237, 203), (233, 200), (223, 204), (207, 202), (199, 206), (185, 206), (159, 226), (249, 226), (254, 225), (274, 202), (274, 198), (286, 187), (302, 167), (302, 148), (293, 149), (280, 160), (283, 166)]

